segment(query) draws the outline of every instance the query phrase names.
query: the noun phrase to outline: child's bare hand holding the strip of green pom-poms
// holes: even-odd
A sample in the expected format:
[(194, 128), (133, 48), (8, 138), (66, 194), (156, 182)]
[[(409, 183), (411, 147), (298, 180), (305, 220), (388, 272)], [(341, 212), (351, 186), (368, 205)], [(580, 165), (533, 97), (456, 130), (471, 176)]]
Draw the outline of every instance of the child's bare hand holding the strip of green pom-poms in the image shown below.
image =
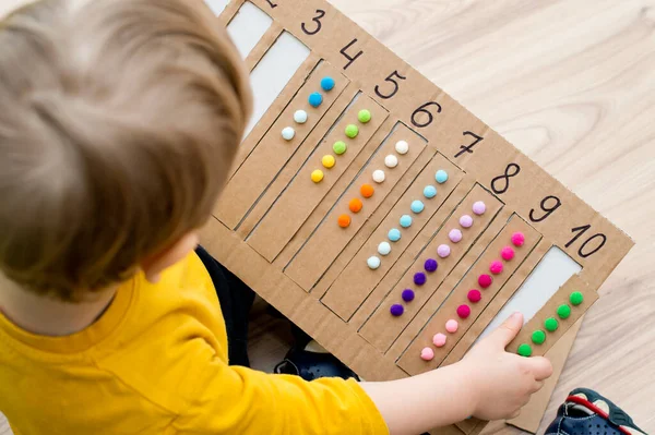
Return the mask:
[(519, 415), (532, 394), (552, 374), (550, 361), (543, 357), (524, 358), (504, 348), (523, 326), (523, 315), (513, 314), (504, 324), (475, 346), (463, 363), (475, 374), (477, 404), (474, 415), (483, 420)]

